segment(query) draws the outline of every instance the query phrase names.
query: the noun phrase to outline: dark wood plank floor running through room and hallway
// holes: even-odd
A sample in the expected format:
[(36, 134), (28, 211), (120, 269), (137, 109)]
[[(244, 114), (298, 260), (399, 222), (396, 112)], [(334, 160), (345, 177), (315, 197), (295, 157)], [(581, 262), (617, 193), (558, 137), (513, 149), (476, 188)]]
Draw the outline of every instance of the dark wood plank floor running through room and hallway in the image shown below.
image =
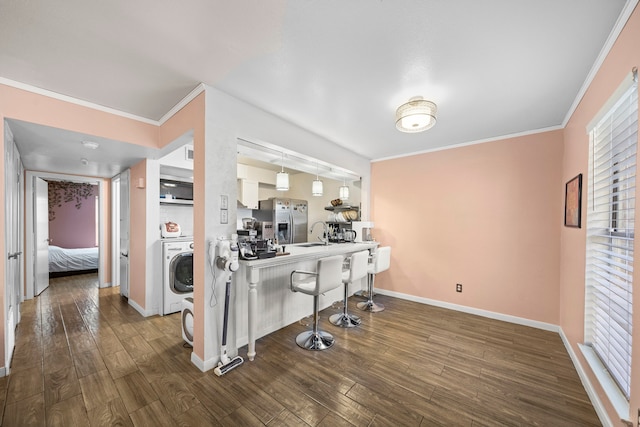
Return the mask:
[(296, 323), (217, 377), (191, 365), (179, 314), (145, 319), (95, 275), (53, 279), (22, 305), (2, 425), (601, 425), (557, 334), (376, 299), (387, 310), (359, 328), (322, 313), (330, 350), (298, 348)]

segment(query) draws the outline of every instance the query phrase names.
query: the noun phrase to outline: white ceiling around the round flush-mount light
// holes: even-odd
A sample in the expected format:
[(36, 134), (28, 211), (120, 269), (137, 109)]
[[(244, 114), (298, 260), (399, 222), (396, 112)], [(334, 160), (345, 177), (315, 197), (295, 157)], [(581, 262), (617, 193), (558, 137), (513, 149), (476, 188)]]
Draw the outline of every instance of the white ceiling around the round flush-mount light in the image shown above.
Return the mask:
[[(561, 126), (636, 3), (3, 0), (0, 78), (152, 121), (203, 82), (375, 160)], [(402, 134), (417, 95), (438, 122)], [(77, 157), (10, 127), (38, 168)]]

